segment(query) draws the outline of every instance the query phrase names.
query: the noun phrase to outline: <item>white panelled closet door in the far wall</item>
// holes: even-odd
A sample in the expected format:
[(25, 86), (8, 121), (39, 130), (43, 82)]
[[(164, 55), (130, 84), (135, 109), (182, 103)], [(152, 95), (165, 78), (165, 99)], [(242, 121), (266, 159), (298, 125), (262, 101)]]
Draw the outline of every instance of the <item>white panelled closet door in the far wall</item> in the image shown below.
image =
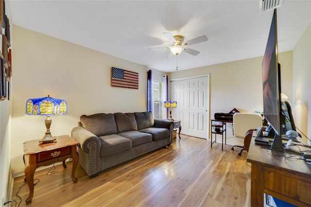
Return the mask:
[(177, 101), (172, 116), (181, 121), (181, 134), (208, 138), (209, 76), (171, 80), (171, 100)]

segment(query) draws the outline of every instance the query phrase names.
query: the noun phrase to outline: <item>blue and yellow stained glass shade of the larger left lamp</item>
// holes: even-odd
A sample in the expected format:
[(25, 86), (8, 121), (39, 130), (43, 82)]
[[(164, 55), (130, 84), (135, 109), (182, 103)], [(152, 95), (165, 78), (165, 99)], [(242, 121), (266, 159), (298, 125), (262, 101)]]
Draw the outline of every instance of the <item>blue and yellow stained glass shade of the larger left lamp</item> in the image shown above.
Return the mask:
[(44, 97), (28, 99), (26, 102), (26, 114), (39, 116), (53, 116), (67, 114), (67, 102), (62, 99)]

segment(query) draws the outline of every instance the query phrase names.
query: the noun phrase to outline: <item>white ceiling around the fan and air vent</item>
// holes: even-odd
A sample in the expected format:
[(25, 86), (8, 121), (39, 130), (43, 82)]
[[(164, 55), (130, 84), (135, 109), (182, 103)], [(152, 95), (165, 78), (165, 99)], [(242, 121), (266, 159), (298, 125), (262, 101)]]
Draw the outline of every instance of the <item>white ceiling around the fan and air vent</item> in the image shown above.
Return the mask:
[[(165, 72), (176, 56), (163, 35), (185, 41), (197, 56), (178, 55), (178, 70), (264, 54), (273, 11), (259, 0), (10, 0), (13, 24)], [(311, 0), (284, 0), (277, 8), (278, 51), (294, 49), (311, 23)], [(14, 43), (13, 43), (14, 44)], [(86, 60), (87, 61), (87, 60)]]

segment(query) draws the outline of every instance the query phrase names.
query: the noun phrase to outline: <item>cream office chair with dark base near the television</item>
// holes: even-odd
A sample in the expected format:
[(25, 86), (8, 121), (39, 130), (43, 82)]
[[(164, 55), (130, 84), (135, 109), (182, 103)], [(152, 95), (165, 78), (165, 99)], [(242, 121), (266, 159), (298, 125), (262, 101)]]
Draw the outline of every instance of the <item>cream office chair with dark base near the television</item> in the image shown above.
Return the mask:
[[(234, 147), (242, 148), (238, 155), (242, 155), (244, 150), (248, 151), (249, 143), (252, 138), (253, 130), (256, 130), (258, 127), (262, 128), (262, 117), (260, 114), (255, 113), (235, 113), (233, 115), (233, 132), (234, 137), (241, 138), (244, 140), (244, 145), (234, 145), (231, 150), (234, 150)], [(247, 146), (245, 146), (245, 143)]]

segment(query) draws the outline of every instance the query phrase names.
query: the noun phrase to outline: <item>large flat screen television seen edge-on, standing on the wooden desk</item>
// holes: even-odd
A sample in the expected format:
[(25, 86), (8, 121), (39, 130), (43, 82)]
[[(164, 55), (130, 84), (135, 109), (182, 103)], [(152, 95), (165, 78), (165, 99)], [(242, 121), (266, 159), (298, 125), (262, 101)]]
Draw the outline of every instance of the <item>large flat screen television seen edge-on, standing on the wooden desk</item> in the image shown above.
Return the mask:
[(272, 150), (284, 151), (281, 138), (281, 81), (277, 61), (276, 9), (262, 61), (263, 116), (275, 131)]

